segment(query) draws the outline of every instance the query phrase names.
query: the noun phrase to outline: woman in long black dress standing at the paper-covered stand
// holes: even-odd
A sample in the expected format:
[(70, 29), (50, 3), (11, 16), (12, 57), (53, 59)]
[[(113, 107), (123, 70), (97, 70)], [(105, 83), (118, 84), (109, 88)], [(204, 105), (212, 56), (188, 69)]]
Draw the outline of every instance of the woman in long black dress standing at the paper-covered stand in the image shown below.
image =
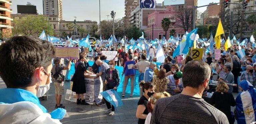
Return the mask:
[[(86, 66), (84, 64), (84, 61), (86, 58), (83, 55), (80, 55), (79, 61), (75, 64), (75, 73), (73, 77), (73, 87), (72, 91), (76, 92), (76, 97), (77, 97), (77, 104), (84, 104), (88, 105), (88, 103), (85, 102), (84, 100), (84, 93), (86, 93), (86, 87), (85, 87), (85, 72), (89, 74), (93, 74), (92, 72), (88, 71), (86, 69)], [(78, 95), (80, 95), (81, 99), (78, 99)]]

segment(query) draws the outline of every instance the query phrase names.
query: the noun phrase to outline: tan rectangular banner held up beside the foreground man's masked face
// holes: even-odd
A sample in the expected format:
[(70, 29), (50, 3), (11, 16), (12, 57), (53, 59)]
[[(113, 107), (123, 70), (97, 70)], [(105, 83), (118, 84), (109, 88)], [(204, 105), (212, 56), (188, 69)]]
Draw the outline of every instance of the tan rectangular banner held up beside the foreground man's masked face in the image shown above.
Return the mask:
[(78, 47), (56, 47), (56, 57), (64, 59), (79, 59)]

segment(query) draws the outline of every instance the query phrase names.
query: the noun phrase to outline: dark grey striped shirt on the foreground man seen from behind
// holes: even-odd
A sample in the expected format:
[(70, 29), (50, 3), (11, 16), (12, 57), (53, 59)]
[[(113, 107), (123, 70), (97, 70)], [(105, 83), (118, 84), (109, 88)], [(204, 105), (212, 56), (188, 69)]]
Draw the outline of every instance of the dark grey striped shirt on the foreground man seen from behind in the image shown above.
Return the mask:
[(228, 124), (226, 115), (202, 98), (178, 94), (157, 100), (151, 124)]

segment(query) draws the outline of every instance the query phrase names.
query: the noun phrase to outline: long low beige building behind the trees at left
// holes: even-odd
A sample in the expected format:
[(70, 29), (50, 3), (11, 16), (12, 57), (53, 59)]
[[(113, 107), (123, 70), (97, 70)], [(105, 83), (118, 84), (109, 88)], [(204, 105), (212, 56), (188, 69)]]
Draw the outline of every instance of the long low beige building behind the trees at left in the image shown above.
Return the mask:
[[(11, 17), (13, 18), (13, 20), (21, 20), (22, 18), (24, 18), (25, 16), (38, 16), (36, 14), (11, 14)], [(48, 15), (43, 15), (43, 17), (48, 19)], [(65, 20), (60, 20), (58, 15), (50, 15), (49, 17), (49, 22), (50, 22), (50, 26), (53, 28), (55, 36), (56, 37), (61, 37), (62, 36), (62, 32), (66, 32), (66, 34), (70, 34), (73, 35), (74, 29), (71, 29), (69, 31), (69, 29), (67, 28), (67, 23), (72, 23), (74, 24), (74, 21), (65, 21)], [(84, 21), (76, 21), (76, 24), (79, 25), (81, 28), (85, 28), (86, 31), (90, 31), (90, 26), (92, 24), (96, 24), (96, 21), (91, 21), (91, 20), (84, 20)], [(47, 29), (45, 29), (47, 30)]]

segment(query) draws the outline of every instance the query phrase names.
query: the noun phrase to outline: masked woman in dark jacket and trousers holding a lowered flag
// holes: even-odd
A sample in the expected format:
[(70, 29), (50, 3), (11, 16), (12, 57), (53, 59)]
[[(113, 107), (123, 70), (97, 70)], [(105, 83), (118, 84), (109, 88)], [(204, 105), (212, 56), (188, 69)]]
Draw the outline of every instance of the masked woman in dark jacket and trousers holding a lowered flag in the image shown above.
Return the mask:
[[(116, 90), (119, 83), (120, 83), (120, 78), (119, 78), (119, 72), (115, 68), (115, 61), (111, 60), (108, 63), (109, 68), (106, 70), (106, 78), (104, 80), (104, 83), (106, 84), (106, 90), (114, 89)], [(107, 105), (107, 110), (105, 113), (109, 113), (110, 116), (114, 115), (115, 113), (115, 107), (111, 105), (105, 98), (104, 101), (106, 102)]]

